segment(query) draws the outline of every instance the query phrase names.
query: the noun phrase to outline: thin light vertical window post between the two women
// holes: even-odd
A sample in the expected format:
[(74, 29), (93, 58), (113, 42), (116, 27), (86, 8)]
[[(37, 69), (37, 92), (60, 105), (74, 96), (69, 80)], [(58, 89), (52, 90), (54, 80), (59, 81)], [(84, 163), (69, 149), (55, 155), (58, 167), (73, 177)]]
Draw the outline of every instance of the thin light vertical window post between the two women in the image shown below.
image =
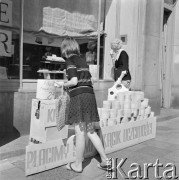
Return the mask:
[(97, 80), (99, 80), (99, 61), (100, 61), (100, 23), (101, 23), (101, 0), (99, 0), (99, 6), (98, 6)]

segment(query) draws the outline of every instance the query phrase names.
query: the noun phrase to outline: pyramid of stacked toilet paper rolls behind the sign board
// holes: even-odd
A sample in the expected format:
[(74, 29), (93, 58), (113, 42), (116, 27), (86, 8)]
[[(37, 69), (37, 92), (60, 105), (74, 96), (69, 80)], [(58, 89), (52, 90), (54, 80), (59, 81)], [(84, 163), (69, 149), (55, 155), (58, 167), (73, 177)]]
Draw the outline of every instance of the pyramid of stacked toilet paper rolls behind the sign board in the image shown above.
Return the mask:
[(142, 91), (119, 92), (115, 100), (103, 101), (103, 107), (98, 108), (100, 126), (114, 126), (153, 117), (154, 112), (151, 112), (148, 102)]

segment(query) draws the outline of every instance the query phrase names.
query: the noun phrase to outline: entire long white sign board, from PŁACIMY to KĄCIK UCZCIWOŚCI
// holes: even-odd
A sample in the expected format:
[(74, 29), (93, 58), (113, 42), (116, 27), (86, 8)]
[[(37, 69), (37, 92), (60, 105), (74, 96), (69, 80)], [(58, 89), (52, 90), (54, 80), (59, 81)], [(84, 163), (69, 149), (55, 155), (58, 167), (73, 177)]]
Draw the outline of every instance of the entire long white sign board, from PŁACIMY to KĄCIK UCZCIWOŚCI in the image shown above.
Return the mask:
[[(130, 147), (155, 138), (156, 117), (146, 120), (104, 127), (100, 134), (103, 138), (106, 154)], [(42, 172), (75, 161), (76, 150), (74, 135), (64, 144), (62, 140), (26, 146), (26, 175)], [(85, 157), (94, 156), (96, 150), (86, 139)]]

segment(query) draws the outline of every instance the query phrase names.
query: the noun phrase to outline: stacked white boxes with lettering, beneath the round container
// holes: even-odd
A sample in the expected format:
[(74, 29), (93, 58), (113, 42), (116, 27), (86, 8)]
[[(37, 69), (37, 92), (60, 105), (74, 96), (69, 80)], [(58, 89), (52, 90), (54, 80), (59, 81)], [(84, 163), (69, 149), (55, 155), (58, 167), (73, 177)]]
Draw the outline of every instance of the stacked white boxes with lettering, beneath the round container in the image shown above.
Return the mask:
[(65, 139), (68, 126), (61, 131), (56, 127), (56, 102), (58, 100), (32, 100), (30, 137), (40, 142)]

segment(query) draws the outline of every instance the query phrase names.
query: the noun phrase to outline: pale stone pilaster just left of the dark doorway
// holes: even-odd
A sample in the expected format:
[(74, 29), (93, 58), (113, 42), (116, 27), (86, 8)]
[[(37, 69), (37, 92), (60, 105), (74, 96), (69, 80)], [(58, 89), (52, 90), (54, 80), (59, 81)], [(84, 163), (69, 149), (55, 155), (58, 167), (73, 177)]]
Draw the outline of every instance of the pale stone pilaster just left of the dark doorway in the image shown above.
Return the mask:
[(145, 20), (145, 50), (143, 56), (143, 90), (150, 99), (152, 111), (160, 113), (160, 51), (163, 23), (163, 1), (147, 0)]

